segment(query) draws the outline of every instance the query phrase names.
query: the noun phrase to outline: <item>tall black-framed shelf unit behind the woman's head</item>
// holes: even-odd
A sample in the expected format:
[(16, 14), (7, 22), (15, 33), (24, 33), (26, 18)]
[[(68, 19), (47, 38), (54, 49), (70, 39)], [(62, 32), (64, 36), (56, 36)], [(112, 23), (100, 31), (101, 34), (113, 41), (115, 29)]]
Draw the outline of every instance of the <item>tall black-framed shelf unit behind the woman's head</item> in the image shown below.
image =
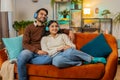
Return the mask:
[[(72, 29), (74, 32), (78, 32), (81, 27), (82, 23), (82, 7), (83, 7), (83, 0), (79, 0), (80, 3), (78, 8), (75, 9), (72, 0), (66, 2), (55, 2), (54, 9), (53, 9), (53, 18), (60, 23), (61, 28), (69, 28)], [(67, 20), (64, 20), (62, 15), (59, 14), (60, 11), (69, 10), (70, 13), (67, 15)]]

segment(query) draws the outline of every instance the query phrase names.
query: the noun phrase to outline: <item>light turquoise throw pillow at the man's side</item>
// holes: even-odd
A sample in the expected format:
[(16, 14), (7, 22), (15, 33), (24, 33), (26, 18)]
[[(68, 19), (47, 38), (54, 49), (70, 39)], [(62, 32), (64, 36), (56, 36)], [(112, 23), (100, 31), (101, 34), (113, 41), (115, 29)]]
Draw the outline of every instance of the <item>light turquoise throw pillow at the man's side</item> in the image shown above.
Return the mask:
[(22, 36), (13, 37), (13, 38), (2, 38), (3, 43), (7, 49), (7, 55), (10, 60), (14, 60), (17, 58), (22, 47)]

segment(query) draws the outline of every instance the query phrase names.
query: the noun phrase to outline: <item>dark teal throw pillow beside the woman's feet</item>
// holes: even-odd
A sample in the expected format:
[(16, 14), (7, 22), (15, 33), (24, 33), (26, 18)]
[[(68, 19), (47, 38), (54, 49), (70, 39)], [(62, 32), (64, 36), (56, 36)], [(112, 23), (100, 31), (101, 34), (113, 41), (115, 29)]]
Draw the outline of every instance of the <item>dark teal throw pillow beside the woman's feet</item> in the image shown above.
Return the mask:
[(112, 52), (103, 34), (98, 35), (80, 50), (93, 57), (107, 57)]

